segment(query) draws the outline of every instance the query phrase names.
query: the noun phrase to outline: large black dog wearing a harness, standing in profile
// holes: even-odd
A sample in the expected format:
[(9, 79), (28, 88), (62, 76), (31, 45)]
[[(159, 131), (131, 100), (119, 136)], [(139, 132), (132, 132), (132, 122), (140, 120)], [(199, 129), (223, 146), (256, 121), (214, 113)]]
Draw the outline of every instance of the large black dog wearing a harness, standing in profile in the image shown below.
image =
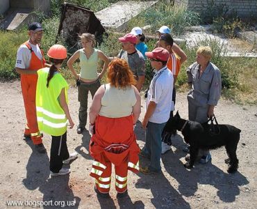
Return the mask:
[(215, 149), (225, 146), (229, 159), (225, 162), (229, 164), (229, 173), (233, 173), (238, 169), (238, 158), (236, 157), (236, 149), (240, 139), (241, 130), (233, 125), (215, 125), (219, 130), (218, 134), (210, 132), (208, 123), (197, 123), (195, 121), (187, 121), (179, 116), (179, 111), (172, 118), (169, 125), (170, 132), (179, 130), (184, 136), (184, 140), (190, 145), (190, 159), (184, 164), (191, 169), (197, 159), (199, 148), (203, 150)]

